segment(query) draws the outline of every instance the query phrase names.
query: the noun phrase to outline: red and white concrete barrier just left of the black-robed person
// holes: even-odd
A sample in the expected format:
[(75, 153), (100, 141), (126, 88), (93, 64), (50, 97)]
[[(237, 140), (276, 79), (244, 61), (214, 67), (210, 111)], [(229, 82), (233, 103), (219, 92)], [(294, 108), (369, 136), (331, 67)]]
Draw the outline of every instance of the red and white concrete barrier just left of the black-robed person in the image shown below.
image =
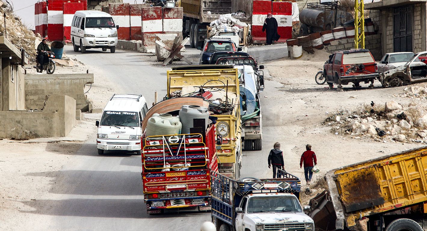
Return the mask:
[(252, 39), (254, 43), (265, 43), (266, 33), (263, 32), (264, 20), (272, 12), (271, 0), (254, 0), (252, 12)]

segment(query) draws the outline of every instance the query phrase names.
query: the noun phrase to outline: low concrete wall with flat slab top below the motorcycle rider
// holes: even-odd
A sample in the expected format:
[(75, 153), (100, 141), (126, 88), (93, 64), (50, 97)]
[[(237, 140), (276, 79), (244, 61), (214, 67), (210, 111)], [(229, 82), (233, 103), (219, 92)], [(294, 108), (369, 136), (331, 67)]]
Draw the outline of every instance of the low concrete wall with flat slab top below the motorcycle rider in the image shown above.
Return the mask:
[(68, 95), (76, 100), (76, 109), (87, 112), (91, 103), (84, 94), (85, 84), (94, 83), (94, 74), (53, 74), (25, 76), (25, 108), (44, 107), (46, 95)]

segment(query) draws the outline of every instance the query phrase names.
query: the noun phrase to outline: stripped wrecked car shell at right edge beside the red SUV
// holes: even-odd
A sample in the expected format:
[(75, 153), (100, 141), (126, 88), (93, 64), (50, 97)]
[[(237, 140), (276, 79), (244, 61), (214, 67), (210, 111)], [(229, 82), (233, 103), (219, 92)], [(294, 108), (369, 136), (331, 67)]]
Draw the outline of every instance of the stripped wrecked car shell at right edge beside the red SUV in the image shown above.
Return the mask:
[[(404, 66), (380, 74), (383, 87), (400, 87), (427, 81), (427, 51), (415, 54)], [(421, 58), (421, 59), (420, 59)]]

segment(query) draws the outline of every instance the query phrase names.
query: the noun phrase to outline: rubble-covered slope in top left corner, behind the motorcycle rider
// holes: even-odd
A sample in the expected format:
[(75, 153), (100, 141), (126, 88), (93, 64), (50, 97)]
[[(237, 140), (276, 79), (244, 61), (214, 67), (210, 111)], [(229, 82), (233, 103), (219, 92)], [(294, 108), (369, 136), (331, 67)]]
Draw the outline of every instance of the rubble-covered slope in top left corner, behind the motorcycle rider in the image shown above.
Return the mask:
[(34, 43), (36, 36), (16, 16), (12, 9), (0, 1), (0, 14), (6, 13), (6, 35), (4, 35), (4, 21), (0, 20), (0, 35), (5, 36), (15, 46), (22, 47), (29, 55), (29, 61), (35, 61)]

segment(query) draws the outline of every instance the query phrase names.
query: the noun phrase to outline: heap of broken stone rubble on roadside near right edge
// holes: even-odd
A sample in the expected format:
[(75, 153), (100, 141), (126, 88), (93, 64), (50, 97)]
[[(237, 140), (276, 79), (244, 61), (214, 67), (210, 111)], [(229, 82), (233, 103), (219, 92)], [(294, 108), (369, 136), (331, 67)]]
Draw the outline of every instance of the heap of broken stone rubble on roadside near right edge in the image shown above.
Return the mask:
[[(328, 113), (329, 114), (329, 113)], [(357, 110), (339, 110), (325, 119), (336, 135), (380, 142), (427, 143), (427, 108), (396, 101), (376, 105), (363, 104)]]

